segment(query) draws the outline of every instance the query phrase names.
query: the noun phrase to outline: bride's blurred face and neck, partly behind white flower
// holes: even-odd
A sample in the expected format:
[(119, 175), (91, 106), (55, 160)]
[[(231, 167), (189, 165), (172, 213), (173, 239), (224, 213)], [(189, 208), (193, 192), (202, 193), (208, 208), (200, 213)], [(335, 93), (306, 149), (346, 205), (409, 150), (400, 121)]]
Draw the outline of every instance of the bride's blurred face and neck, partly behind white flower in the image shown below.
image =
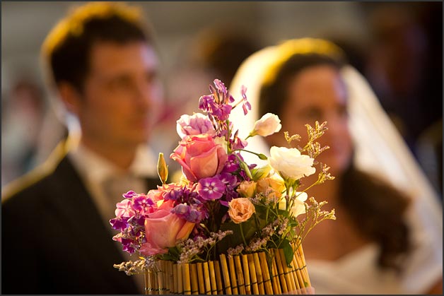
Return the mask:
[(274, 146), (288, 146), (283, 135), (283, 131), (288, 131), (290, 135), (302, 136), (301, 141), (293, 141), (291, 146), (303, 147), (308, 141), (305, 124), (315, 126), (315, 121), (327, 121), (328, 130), (317, 141), (330, 148), (316, 159), (331, 167), (332, 175), (344, 172), (351, 159), (352, 143), (347, 125), (346, 89), (337, 69), (328, 65), (311, 66), (291, 78), (279, 118), (281, 131), (267, 137)]

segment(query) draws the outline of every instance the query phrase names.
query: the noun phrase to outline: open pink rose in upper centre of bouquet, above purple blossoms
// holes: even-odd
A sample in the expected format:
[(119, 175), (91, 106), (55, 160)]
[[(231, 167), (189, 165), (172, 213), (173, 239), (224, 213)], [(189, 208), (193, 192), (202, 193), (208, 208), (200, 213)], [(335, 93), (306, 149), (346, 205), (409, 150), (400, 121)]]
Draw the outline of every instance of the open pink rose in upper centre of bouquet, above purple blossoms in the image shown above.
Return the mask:
[(192, 182), (214, 177), (228, 160), (225, 148), (208, 134), (185, 136), (170, 158), (182, 165), (182, 172)]

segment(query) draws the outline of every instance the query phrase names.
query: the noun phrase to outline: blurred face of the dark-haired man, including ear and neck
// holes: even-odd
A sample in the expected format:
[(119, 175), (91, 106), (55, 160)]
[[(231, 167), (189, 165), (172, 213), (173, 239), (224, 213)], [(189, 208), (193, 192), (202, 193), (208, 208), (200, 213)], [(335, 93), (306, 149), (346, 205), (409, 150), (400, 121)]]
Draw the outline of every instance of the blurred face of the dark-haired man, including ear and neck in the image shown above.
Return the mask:
[(156, 52), (144, 42), (99, 42), (76, 113), (83, 141), (133, 148), (148, 140), (160, 113), (162, 87)]

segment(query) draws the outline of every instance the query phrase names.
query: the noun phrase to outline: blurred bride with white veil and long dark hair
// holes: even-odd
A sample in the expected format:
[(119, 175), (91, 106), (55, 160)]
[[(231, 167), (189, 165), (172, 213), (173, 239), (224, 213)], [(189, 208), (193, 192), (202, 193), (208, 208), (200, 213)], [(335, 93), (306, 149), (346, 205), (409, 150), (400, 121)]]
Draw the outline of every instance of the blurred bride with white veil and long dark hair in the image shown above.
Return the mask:
[[(337, 220), (317, 225), (303, 242), (316, 293), (442, 293), (436, 194), (341, 49), (308, 38), (267, 47), (240, 67), (230, 92), (238, 93), (240, 84), (252, 104), (247, 120), (233, 114), (235, 124), (242, 122), (240, 136), (272, 112), (281, 119), (281, 131), (303, 136), (303, 146), (305, 124), (327, 121), (329, 130), (319, 141), (329, 149), (317, 160), (331, 167), (335, 179), (308, 194), (328, 201), (326, 209), (335, 208)], [(265, 154), (269, 146), (288, 145), (282, 133), (252, 140), (250, 148)], [(258, 162), (250, 157), (244, 155)], [(305, 184), (315, 181), (310, 177)]]

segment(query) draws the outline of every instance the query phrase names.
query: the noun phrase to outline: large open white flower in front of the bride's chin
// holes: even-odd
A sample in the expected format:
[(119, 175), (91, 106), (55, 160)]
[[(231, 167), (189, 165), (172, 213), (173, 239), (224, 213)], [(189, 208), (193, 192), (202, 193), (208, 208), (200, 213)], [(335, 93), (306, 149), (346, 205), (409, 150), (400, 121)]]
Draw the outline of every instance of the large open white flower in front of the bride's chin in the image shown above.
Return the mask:
[(314, 174), (316, 169), (312, 167), (313, 158), (301, 155), (297, 148), (285, 148), (273, 146), (270, 148), (268, 163), (279, 172), (284, 179), (297, 180), (304, 176)]

